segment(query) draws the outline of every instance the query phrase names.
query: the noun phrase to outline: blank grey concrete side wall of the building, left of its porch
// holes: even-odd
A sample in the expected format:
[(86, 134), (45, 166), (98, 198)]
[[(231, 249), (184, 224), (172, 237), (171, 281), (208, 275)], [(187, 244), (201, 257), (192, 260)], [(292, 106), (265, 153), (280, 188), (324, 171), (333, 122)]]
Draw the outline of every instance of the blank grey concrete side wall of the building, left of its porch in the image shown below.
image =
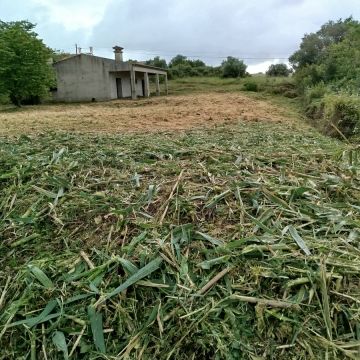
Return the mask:
[[(56, 64), (58, 101), (109, 100), (116, 82), (110, 81), (112, 60), (80, 55)], [(115, 96), (116, 98), (116, 96)]]

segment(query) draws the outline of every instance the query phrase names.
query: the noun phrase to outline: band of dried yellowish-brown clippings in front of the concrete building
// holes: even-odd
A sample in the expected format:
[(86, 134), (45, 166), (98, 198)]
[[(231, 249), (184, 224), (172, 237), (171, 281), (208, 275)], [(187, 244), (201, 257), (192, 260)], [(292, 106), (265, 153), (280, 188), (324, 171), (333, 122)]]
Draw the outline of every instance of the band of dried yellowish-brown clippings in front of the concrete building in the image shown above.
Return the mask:
[(0, 111), (0, 135), (48, 130), (87, 133), (186, 130), (236, 120), (288, 123), (291, 113), (268, 101), (256, 100), (240, 93), (27, 106), (15, 111)]

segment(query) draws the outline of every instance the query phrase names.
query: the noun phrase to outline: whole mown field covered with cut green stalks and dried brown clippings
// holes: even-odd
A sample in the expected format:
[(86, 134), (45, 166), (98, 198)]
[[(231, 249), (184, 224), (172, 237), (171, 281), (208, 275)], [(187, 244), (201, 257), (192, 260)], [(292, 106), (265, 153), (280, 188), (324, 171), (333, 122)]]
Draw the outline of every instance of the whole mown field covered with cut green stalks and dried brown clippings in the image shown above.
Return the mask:
[(186, 81), (0, 112), (0, 359), (359, 358), (358, 148)]

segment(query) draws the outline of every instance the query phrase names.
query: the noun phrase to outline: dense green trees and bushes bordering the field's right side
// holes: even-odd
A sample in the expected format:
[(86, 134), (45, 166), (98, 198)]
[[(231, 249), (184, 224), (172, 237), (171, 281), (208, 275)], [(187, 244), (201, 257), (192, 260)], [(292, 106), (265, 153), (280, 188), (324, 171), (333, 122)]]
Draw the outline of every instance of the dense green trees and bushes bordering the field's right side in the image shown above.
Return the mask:
[(305, 35), (290, 61), (306, 114), (329, 134), (359, 134), (360, 23), (352, 18), (326, 23)]

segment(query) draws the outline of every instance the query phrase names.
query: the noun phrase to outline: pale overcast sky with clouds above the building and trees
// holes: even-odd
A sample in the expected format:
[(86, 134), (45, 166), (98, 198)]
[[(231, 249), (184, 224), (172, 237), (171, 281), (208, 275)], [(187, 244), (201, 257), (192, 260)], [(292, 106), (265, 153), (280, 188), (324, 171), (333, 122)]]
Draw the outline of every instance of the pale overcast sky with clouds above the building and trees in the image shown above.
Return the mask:
[(328, 20), (360, 20), (360, 0), (0, 0), (0, 20), (27, 19), (51, 48), (146, 60), (176, 54), (220, 64), (245, 59), (250, 72), (284, 62), (304, 33)]

